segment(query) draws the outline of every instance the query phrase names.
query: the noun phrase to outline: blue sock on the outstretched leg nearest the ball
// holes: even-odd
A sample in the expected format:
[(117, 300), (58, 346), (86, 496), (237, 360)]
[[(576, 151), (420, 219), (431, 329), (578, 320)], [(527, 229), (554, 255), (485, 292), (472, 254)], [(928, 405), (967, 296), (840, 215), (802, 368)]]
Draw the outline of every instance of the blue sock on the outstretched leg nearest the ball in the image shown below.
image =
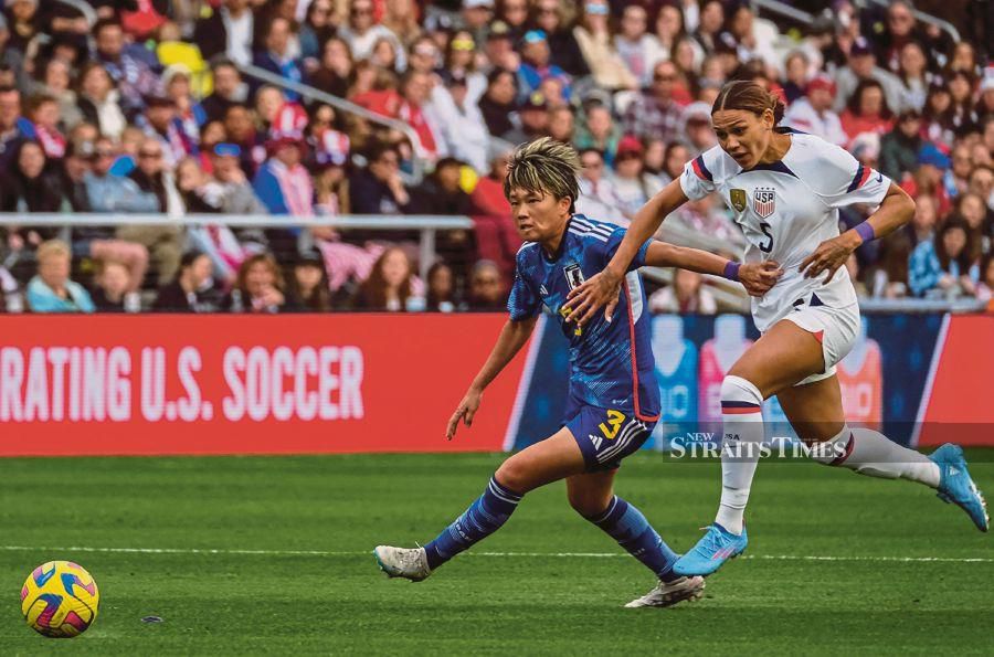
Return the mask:
[(484, 494), (455, 519), (434, 541), (424, 547), (429, 568), (435, 570), (459, 552), (487, 538), (510, 518), (521, 495), (490, 477)]

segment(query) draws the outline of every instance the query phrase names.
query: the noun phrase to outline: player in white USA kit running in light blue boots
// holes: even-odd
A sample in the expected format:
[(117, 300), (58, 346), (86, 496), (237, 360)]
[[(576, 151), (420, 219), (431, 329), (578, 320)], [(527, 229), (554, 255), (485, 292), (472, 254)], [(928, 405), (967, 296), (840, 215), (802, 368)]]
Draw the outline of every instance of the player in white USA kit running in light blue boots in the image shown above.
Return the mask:
[[(914, 201), (842, 148), (812, 135), (778, 128), (783, 105), (755, 83), (730, 82), (711, 109), (719, 145), (687, 163), (684, 173), (642, 208), (604, 271), (571, 294), (571, 319), (611, 316), (626, 265), (664, 218), (688, 199), (718, 192), (748, 240), (745, 261), (780, 264), (773, 288), (752, 299), (762, 337), (732, 365), (721, 385), (725, 434), (721, 501), (715, 522), (675, 570), (710, 574), (747, 545), (743, 512), (763, 434), (763, 400), (778, 395), (814, 458), (874, 477), (902, 477), (935, 488), (987, 531), (984, 499), (962, 449), (945, 444), (930, 456), (868, 428), (849, 428), (835, 365), (859, 332), (859, 306), (846, 268), (868, 240), (907, 223)], [(839, 234), (838, 208), (879, 205)], [(729, 264), (733, 276), (736, 265)], [(752, 443), (752, 445), (750, 445)]]

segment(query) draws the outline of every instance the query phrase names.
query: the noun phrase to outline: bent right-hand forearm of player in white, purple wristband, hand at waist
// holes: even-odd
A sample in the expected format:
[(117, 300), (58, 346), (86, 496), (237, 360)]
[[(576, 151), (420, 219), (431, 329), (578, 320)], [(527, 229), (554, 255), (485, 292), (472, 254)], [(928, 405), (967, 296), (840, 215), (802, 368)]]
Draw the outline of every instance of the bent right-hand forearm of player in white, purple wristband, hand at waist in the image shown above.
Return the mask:
[(914, 200), (891, 182), (887, 194), (880, 201), (880, 206), (869, 219), (838, 237), (818, 244), (814, 253), (801, 263), (800, 269), (804, 272), (805, 278), (814, 278), (827, 272), (825, 280), (831, 280), (836, 269), (846, 264), (849, 255), (860, 244), (889, 235), (911, 221), (912, 216), (914, 216)]

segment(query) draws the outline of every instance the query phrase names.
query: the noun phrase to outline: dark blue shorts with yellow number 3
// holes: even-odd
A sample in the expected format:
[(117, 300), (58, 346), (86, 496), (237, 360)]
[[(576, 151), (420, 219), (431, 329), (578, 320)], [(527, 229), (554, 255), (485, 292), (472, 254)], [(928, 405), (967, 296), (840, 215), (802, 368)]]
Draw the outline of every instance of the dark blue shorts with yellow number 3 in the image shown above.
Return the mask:
[(573, 434), (586, 471), (613, 470), (653, 434), (655, 422), (638, 420), (631, 409), (600, 409), (570, 400), (565, 427)]

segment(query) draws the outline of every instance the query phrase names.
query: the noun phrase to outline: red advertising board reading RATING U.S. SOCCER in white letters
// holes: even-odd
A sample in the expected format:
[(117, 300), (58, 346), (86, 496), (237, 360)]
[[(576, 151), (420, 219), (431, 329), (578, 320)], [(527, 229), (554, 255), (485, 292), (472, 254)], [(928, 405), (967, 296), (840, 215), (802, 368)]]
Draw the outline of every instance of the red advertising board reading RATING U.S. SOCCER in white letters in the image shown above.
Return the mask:
[(445, 424), (505, 319), (2, 317), (0, 456), (500, 451), (524, 354)]

